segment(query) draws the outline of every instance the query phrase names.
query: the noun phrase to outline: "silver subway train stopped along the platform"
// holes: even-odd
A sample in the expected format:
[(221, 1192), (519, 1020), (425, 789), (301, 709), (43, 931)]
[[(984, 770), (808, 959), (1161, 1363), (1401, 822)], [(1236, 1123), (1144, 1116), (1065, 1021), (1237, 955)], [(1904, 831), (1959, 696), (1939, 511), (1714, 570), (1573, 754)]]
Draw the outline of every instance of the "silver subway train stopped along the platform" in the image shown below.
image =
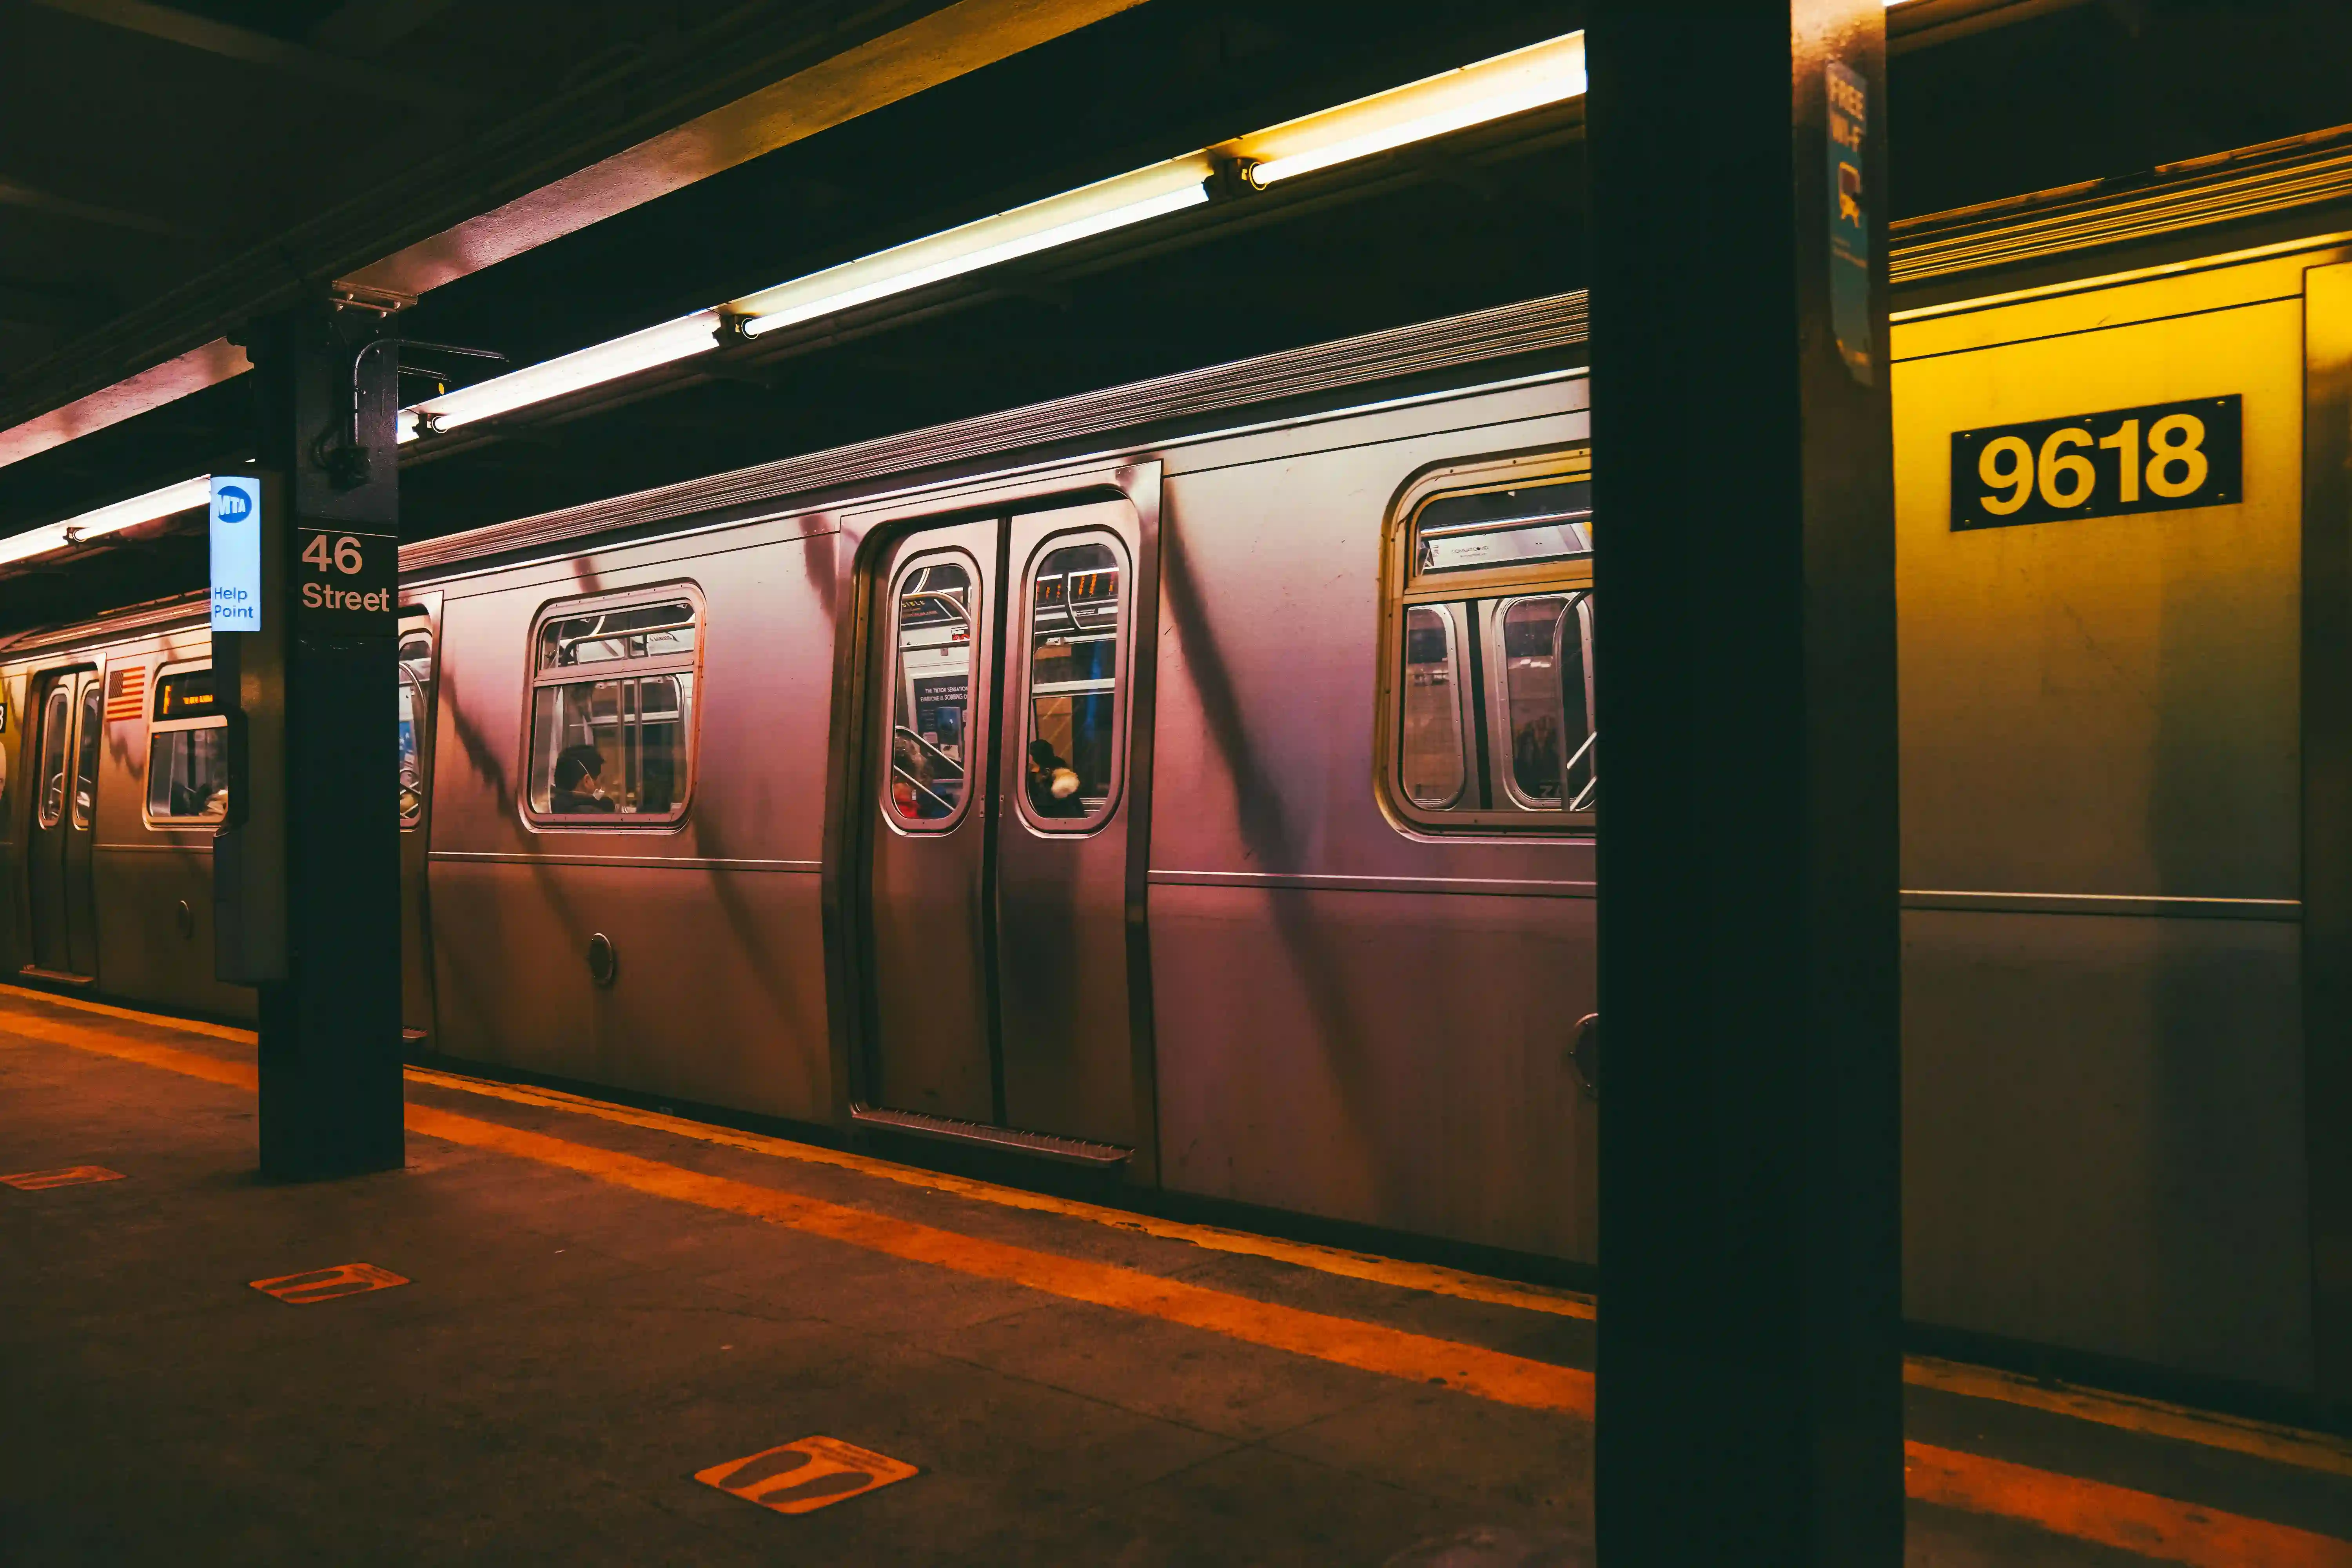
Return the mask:
[[(1898, 233), (1922, 1335), (2265, 1401), (2352, 1349), (2347, 165)], [(412, 1051), (1590, 1265), (1642, 517), (1585, 364), (1538, 299), (405, 548)], [(252, 1013), (202, 611), (0, 649), (28, 985)]]

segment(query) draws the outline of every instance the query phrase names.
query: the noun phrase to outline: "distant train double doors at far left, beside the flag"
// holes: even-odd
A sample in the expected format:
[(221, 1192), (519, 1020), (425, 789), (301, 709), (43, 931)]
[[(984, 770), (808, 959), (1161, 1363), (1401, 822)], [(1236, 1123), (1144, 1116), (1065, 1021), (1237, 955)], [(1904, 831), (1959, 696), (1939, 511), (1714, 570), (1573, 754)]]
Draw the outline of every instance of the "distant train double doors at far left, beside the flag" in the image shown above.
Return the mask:
[(96, 670), (61, 670), (38, 682), (33, 736), (33, 837), (26, 877), (33, 905), (33, 969), (99, 973), (99, 917), (89, 889), (89, 844), (99, 816), (99, 750), (106, 698)]

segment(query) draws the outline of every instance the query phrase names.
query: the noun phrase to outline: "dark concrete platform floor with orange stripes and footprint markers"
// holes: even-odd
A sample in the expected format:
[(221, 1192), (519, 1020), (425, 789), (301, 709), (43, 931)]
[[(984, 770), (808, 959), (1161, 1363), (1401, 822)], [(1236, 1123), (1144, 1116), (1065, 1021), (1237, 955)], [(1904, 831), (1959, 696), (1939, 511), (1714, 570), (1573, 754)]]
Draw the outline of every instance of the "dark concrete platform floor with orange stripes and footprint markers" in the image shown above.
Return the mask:
[[(1588, 1300), (433, 1072), (407, 1171), (266, 1185), (252, 1084), (0, 987), (0, 1178), (120, 1173), (0, 1185), (0, 1563), (1585, 1561)], [(2352, 1568), (2336, 1439), (1907, 1399), (1910, 1563)], [(915, 1474), (731, 1465), (807, 1436)]]

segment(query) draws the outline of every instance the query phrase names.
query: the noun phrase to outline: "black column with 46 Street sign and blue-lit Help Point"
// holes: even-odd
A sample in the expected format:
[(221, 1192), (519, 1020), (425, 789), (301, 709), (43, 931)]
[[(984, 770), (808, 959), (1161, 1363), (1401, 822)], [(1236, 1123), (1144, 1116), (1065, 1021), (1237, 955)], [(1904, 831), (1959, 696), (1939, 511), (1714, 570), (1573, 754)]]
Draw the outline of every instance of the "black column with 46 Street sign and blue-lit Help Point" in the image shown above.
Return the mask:
[(247, 331), (261, 461), (212, 508), (214, 957), (259, 992), (261, 1171), (282, 1180), (405, 1161), (397, 369), (353, 315)]

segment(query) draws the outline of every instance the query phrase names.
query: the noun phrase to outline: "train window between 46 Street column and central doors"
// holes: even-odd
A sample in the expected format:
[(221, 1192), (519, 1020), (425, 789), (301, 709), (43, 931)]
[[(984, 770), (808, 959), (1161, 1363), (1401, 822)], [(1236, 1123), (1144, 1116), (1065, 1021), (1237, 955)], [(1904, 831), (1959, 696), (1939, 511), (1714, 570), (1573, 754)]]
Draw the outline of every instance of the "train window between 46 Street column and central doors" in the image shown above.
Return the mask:
[(532, 646), (532, 820), (682, 818), (694, 790), (701, 597), (663, 588), (564, 604), (541, 616)]

